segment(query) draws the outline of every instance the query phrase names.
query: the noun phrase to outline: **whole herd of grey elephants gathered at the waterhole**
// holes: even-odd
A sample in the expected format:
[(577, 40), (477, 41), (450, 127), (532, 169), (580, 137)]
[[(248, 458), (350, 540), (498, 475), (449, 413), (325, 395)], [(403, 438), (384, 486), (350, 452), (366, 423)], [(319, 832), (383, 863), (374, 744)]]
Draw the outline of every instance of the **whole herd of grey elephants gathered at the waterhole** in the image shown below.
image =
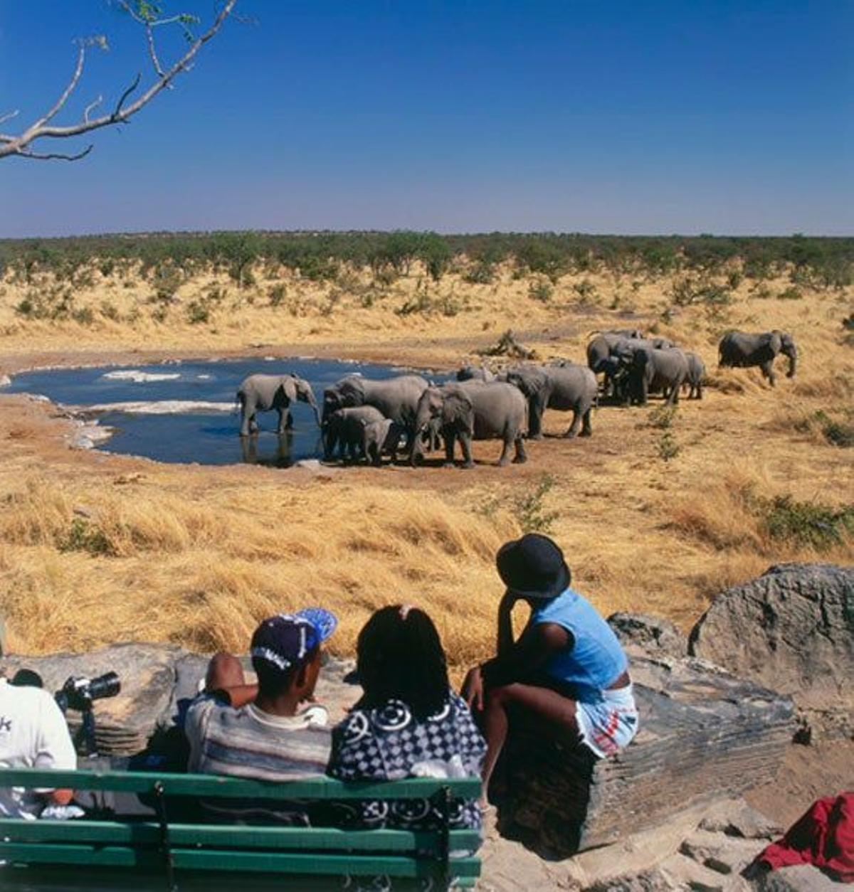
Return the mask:
[[(774, 359), (789, 359), (788, 376), (795, 374), (797, 349), (792, 335), (729, 332), (719, 348), (721, 367), (759, 367), (773, 386)], [(667, 338), (644, 337), (637, 329), (597, 333), (587, 345), (587, 365), (561, 360), (537, 366), (521, 364), (494, 374), (485, 367), (466, 366), (457, 380), (433, 384), (419, 375), (373, 380), (348, 375), (323, 393), (322, 414), (311, 384), (296, 375), (251, 375), (240, 384), (240, 435), (257, 433), (256, 413), (278, 411), (278, 433), (291, 426), (289, 407), (308, 403), (323, 436), (324, 458), (368, 460), (379, 466), (383, 456), (396, 461), (405, 450), (410, 464), (425, 451), (444, 443), (445, 464), (452, 465), (460, 443), (463, 467), (472, 467), (473, 440), (502, 441), (499, 466), (526, 461), (525, 439), (543, 437), (545, 409), (571, 411), (564, 437), (590, 436), (591, 413), (600, 399), (622, 405), (644, 405), (651, 393), (667, 404), (688, 387), (689, 399), (702, 398), (706, 368), (700, 356), (684, 351)], [(600, 386), (597, 376), (603, 375)]]

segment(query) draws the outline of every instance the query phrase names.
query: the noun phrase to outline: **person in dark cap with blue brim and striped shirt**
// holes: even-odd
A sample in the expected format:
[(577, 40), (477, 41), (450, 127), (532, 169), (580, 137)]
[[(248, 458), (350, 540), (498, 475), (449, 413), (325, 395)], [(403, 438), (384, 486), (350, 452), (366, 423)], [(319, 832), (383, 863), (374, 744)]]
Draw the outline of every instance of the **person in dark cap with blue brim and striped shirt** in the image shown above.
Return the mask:
[[(320, 607), (265, 619), (250, 648), (254, 684), (245, 681), (237, 657), (212, 657), (205, 693), (187, 711), (189, 771), (258, 780), (323, 776), (331, 736), (327, 712), (313, 696), (320, 648), (336, 625), (335, 615)], [(223, 799), (203, 805), (232, 820), (312, 823), (311, 807), (301, 803)]]

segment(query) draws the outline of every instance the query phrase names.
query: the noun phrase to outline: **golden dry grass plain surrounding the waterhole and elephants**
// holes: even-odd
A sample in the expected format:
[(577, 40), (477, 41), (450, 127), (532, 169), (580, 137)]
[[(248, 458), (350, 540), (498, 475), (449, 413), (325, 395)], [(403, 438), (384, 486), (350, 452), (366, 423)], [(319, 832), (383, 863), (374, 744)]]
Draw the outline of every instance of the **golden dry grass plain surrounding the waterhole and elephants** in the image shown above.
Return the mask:
[[(573, 285), (581, 278), (593, 281), (599, 302), (577, 310)], [(532, 299), (529, 282), (509, 271), (493, 285), (445, 277), (431, 294), (458, 301), (455, 316), (394, 312), (419, 287), (417, 274), (369, 307), (356, 277), (331, 313), (323, 309), (329, 286), (287, 280), (292, 302), (271, 307), (272, 280), (262, 280), (254, 292), (229, 286), (211, 323), (190, 325), (182, 308), (211, 284), (206, 277), (182, 285), (181, 302), (160, 324), (146, 303), (150, 285), (96, 279), (76, 305), (110, 299), (120, 321), (80, 326), (22, 320), (12, 309), (21, 293), (6, 282), (0, 372), (52, 351), (50, 361), (73, 362), (151, 343), (196, 354), (259, 342), (298, 343), (300, 351), (337, 343), (342, 354), (455, 363), (507, 327), (524, 332), (544, 359), (581, 359), (589, 332), (631, 324), (655, 326), (699, 351), (711, 384), (702, 402), (681, 404), (668, 430), (679, 451), (667, 463), (649, 410), (601, 409), (592, 441), (546, 439), (531, 444), (526, 466), (470, 474), (350, 469), (309, 479), (258, 467), (157, 466), (57, 447), (50, 425), (60, 422), (48, 423), (44, 409), (26, 418), (0, 412), (0, 584), (14, 647), (46, 652), (137, 639), (240, 649), (261, 616), (321, 603), (340, 615), (333, 649), (347, 654), (371, 610), (409, 601), (435, 617), (459, 669), (493, 647), (500, 594), (493, 554), (518, 534), (514, 504), (543, 471), (555, 481), (543, 504), (557, 513), (552, 533), (578, 587), (606, 614), (647, 610), (687, 628), (717, 591), (769, 564), (850, 562), (850, 538), (821, 553), (770, 538), (747, 495), (851, 500), (850, 450), (797, 426), (819, 411), (846, 417), (854, 350), (840, 319), (851, 289), (778, 301), (755, 298), (743, 284), (729, 307), (681, 308), (665, 322), (667, 281), (632, 289), (611, 275), (564, 277), (548, 303)], [(774, 293), (784, 284), (772, 283)], [(617, 294), (620, 310), (609, 310)], [(622, 316), (628, 301), (634, 315)], [(144, 314), (129, 321), (134, 308)], [(798, 376), (781, 375), (771, 391), (758, 370), (718, 371), (717, 340), (728, 327), (791, 330)], [(557, 413), (546, 417), (547, 432), (565, 425)], [(496, 453), (490, 443), (476, 452), (491, 461)]]

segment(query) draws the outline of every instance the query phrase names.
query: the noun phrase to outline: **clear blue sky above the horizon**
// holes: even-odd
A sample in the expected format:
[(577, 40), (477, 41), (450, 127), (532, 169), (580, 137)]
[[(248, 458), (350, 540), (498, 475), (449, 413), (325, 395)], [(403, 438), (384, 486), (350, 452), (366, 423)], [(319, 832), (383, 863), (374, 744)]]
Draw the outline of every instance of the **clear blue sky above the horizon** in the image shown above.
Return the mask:
[[(0, 161), (0, 236), (854, 235), (851, 0), (237, 8), (256, 22), (229, 22), (84, 161)], [(0, 0), (0, 114), (46, 108), (72, 38), (99, 33), (111, 50), (92, 55), (67, 120), (147, 73), (140, 34), (106, 0)]]

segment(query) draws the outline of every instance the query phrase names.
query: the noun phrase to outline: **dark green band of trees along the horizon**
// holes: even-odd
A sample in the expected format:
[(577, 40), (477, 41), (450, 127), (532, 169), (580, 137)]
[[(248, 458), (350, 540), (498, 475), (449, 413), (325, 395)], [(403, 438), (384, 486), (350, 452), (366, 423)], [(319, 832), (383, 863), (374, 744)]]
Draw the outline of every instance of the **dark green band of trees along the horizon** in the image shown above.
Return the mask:
[(741, 264), (744, 277), (763, 279), (784, 270), (816, 287), (854, 281), (854, 237), (736, 235), (585, 235), (580, 233), (477, 233), (439, 235), (410, 230), (220, 231), (140, 233), (58, 238), (0, 239), (0, 276), (7, 270), (30, 280), (36, 272), (72, 278), (95, 262), (104, 276), (122, 264), (145, 273), (174, 266), (186, 273), (211, 264), (242, 283), (256, 262), (278, 263), (301, 277), (335, 280), (344, 265), (408, 275), (421, 262), (439, 280), (460, 261), (469, 282), (493, 281), (500, 264), (556, 281), (566, 274), (609, 270), (662, 276), (714, 275)]

